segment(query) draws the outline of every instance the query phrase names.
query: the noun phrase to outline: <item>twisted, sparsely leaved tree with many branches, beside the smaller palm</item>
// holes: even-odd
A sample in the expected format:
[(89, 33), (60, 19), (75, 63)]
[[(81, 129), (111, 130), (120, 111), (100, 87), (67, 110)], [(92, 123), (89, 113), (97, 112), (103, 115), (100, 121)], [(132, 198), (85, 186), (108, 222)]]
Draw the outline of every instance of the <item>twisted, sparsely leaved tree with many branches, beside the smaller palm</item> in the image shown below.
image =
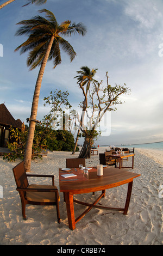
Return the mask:
[[(85, 140), (80, 151), (79, 157), (81, 158), (90, 158), (91, 156), (91, 145), (93, 142), (93, 137), (97, 135), (96, 128), (101, 122), (107, 111), (116, 111), (115, 105), (122, 104), (119, 100), (119, 97), (122, 94), (128, 94), (130, 92), (130, 88), (126, 87), (126, 84), (123, 86), (118, 86), (117, 84), (112, 87), (109, 84), (109, 76), (108, 72), (106, 72), (106, 86), (102, 87), (103, 81), (101, 82), (92, 82), (92, 87), (89, 88), (89, 100), (90, 106), (92, 109), (92, 113), (89, 117), (87, 114), (87, 118), (89, 119), (89, 130), (83, 129), (83, 125), (81, 123), (80, 130), (83, 132)], [(84, 101), (86, 105), (88, 105), (87, 95), (85, 93), (84, 88), (83, 95)], [(87, 113), (87, 110), (86, 110)], [(96, 113), (96, 116), (95, 116)]]

